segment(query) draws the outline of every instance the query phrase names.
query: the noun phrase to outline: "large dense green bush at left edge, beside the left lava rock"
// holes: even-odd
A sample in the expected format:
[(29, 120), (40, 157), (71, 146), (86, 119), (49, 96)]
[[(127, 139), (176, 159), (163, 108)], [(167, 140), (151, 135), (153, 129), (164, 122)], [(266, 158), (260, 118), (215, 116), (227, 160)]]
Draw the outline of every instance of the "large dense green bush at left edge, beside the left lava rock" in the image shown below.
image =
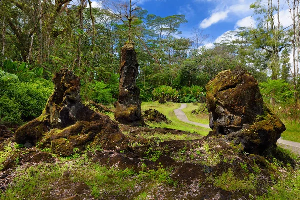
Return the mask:
[[(45, 79), (34, 79), (29, 82), (15, 79), (0, 80), (1, 99), (7, 100), (6, 97), (10, 99), (10, 103), (2, 102), (0, 112), (2, 122), (6, 120), (6, 122), (20, 123), (20, 118), (28, 121), (38, 117), (52, 92), (52, 82)], [(9, 110), (10, 106), (13, 110), (7, 113), (5, 110)]]

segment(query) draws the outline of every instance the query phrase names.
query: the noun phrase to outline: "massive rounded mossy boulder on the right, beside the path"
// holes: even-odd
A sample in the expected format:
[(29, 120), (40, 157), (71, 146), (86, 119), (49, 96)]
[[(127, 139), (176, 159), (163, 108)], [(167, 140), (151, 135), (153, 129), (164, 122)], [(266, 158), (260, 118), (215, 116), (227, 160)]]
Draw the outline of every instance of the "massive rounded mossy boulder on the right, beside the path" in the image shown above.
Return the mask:
[(240, 67), (220, 72), (206, 85), (208, 136), (225, 135), (245, 151), (262, 154), (276, 144), (285, 126), (267, 107), (258, 82)]

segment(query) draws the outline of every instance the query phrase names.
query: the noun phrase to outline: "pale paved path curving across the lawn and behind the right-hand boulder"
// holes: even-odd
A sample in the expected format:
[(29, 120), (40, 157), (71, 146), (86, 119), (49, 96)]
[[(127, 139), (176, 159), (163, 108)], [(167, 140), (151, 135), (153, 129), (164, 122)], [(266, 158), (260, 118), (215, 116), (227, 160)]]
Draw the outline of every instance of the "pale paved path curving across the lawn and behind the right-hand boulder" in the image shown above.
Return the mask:
[[(208, 124), (202, 124), (202, 123), (197, 123), (197, 122), (193, 122), (188, 120), (187, 116), (185, 115), (185, 113), (182, 111), (182, 109), (186, 108), (187, 104), (186, 103), (181, 103), (181, 107), (178, 109), (174, 109), (174, 113), (176, 115), (176, 117), (180, 120), (183, 121), (185, 123), (190, 123), (190, 124), (194, 124), (196, 126), (201, 126), (204, 128), (210, 128)], [(297, 148), (297, 149), (291, 149), (292, 151), (296, 151), (298, 154), (300, 154), (300, 143), (298, 142), (294, 142), (294, 141), (287, 141), (284, 139), (279, 138), (277, 141), (278, 144), (283, 144), (286, 146), (290, 146), (292, 148)]]

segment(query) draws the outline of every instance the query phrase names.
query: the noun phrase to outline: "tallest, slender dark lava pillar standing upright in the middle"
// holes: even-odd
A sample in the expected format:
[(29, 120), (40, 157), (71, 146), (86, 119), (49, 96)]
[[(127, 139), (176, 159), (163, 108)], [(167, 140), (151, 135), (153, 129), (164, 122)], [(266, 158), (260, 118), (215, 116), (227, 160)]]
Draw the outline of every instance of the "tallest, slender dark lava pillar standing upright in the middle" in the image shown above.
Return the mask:
[(138, 62), (134, 43), (128, 42), (121, 49), (119, 97), (114, 116), (122, 124), (144, 125), (141, 117), (140, 90), (136, 86)]

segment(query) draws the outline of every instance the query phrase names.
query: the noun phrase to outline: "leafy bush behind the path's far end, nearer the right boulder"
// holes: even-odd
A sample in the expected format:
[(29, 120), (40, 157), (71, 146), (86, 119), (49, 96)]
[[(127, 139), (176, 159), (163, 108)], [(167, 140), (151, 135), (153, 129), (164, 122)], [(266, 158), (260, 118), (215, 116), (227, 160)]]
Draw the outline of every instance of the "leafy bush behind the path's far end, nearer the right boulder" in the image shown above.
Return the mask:
[(182, 87), (179, 101), (182, 103), (202, 102), (205, 99), (203, 87), (193, 85), (192, 87)]

